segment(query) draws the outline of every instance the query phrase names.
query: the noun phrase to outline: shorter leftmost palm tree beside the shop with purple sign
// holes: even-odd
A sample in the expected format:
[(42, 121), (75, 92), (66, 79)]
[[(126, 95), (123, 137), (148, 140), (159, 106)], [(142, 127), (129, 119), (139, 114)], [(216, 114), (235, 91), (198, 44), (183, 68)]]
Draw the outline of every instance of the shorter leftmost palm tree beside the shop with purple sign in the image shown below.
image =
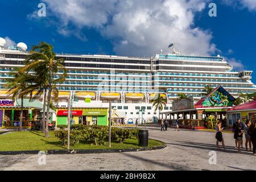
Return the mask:
[[(7, 94), (12, 97), (13, 101), (21, 99), (21, 109), (20, 109), (20, 121), (19, 121), (19, 131), (22, 131), (22, 117), (23, 117), (23, 100), (29, 92), (23, 93), (29, 85), (32, 84), (34, 77), (28, 75), (28, 73), (19, 73), (20, 68), (14, 69), (14, 72), (10, 72), (9, 76), (13, 78), (7, 78), (7, 84), (5, 87), (9, 89)], [(32, 92), (30, 93), (32, 95)]]

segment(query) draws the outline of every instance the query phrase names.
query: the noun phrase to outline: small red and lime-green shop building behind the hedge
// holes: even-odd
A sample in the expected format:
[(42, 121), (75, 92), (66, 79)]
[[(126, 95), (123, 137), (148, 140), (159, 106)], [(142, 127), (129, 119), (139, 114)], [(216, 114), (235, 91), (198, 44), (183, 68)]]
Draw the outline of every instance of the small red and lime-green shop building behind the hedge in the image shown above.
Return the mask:
[[(72, 124), (108, 126), (107, 107), (73, 107)], [(56, 126), (68, 125), (67, 107), (59, 107), (56, 111)]]

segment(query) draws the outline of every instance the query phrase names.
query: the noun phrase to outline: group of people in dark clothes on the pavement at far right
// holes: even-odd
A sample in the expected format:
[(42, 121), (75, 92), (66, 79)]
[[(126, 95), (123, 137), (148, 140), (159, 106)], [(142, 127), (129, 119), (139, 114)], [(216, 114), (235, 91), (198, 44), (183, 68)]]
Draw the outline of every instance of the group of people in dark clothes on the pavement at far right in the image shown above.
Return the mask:
[[(226, 150), (224, 138), (222, 136), (222, 130), (224, 128), (221, 127), (221, 122), (217, 123), (216, 126), (216, 146), (218, 147), (219, 143), (222, 143), (224, 150)], [(245, 148), (247, 151), (253, 151), (253, 154), (256, 155), (256, 122), (246, 121), (246, 123), (242, 123), (240, 119), (237, 119), (237, 122), (234, 123), (232, 127), (232, 131), (234, 133), (235, 144), (238, 152), (241, 152), (241, 148), (243, 148), (243, 134), (245, 135)]]

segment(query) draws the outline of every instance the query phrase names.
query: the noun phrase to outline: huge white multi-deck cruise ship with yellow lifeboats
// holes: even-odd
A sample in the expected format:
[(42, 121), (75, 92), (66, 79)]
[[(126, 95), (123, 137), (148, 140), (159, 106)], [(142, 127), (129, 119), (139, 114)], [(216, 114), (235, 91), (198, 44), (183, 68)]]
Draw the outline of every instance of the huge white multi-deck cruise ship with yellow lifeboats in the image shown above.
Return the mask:
[[(8, 98), (4, 88), (5, 78), (15, 67), (22, 67), (27, 58), (27, 46), (18, 43), (5, 48), (5, 39), (0, 38), (0, 97)], [(59, 102), (56, 106), (67, 106), (70, 91), (76, 91), (80, 100), (90, 96), (94, 101), (102, 101), (126, 113), (126, 119), (146, 119), (152, 122), (158, 111), (151, 101), (156, 93), (166, 97), (168, 104), (163, 111), (172, 110), (172, 101), (178, 93), (193, 97), (195, 101), (203, 96), (207, 85), (213, 88), (223, 86), (234, 97), (238, 93), (254, 93), (256, 87), (251, 82), (253, 71), (232, 71), (232, 65), (217, 56), (185, 56), (173, 49), (172, 53), (160, 51), (152, 57), (126, 57), (108, 55), (67, 55), (57, 54), (57, 59), (65, 60), (68, 77), (58, 85)], [(55, 77), (59, 77), (57, 73)], [(139, 111), (143, 109), (144, 113)], [(140, 121), (141, 122), (141, 121)]]

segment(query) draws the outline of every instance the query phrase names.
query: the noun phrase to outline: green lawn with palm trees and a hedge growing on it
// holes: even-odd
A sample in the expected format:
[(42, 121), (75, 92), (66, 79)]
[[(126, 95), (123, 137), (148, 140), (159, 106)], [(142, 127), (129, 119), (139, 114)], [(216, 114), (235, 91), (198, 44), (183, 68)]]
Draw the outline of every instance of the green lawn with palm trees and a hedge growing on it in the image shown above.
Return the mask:
[[(5, 135), (0, 135), (0, 151), (27, 151), (27, 150), (65, 150), (66, 146), (61, 146), (61, 142), (54, 136), (53, 131), (50, 132), (49, 138), (44, 138), (44, 135), (39, 131), (23, 131), (12, 132)], [(162, 142), (149, 140), (148, 147), (163, 145)], [(138, 139), (126, 139), (125, 142), (112, 142), (112, 149), (122, 148), (140, 148)], [(91, 146), (90, 144), (79, 143), (76, 146), (71, 146), (71, 149), (109, 149), (108, 142), (104, 146)]]

